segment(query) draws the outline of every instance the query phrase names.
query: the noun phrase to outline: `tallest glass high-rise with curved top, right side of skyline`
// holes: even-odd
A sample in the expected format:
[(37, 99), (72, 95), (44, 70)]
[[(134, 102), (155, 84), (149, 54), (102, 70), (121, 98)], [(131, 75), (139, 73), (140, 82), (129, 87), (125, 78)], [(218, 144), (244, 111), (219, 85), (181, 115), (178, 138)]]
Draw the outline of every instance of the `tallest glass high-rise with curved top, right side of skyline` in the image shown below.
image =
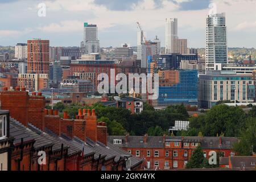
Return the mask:
[(225, 13), (207, 17), (205, 55), (207, 70), (214, 70), (216, 63), (228, 63)]

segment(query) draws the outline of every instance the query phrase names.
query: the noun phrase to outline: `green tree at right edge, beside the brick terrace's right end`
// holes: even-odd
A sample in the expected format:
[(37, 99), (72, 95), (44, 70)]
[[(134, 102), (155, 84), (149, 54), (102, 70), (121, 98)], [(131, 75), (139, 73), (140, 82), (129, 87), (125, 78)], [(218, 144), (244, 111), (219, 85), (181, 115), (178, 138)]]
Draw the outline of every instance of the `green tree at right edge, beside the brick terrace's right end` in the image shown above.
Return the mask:
[(256, 118), (246, 119), (246, 127), (241, 131), (241, 138), (234, 144), (233, 149), (245, 156), (256, 151)]

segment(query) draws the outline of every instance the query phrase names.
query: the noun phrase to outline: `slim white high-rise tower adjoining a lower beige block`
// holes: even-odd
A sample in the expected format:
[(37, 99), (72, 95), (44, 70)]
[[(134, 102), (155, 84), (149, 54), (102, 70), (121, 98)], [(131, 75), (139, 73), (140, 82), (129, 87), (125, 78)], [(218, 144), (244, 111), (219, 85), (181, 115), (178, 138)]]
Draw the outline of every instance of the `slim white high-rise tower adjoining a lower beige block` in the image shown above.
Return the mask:
[(166, 53), (175, 53), (177, 36), (177, 18), (166, 18)]

